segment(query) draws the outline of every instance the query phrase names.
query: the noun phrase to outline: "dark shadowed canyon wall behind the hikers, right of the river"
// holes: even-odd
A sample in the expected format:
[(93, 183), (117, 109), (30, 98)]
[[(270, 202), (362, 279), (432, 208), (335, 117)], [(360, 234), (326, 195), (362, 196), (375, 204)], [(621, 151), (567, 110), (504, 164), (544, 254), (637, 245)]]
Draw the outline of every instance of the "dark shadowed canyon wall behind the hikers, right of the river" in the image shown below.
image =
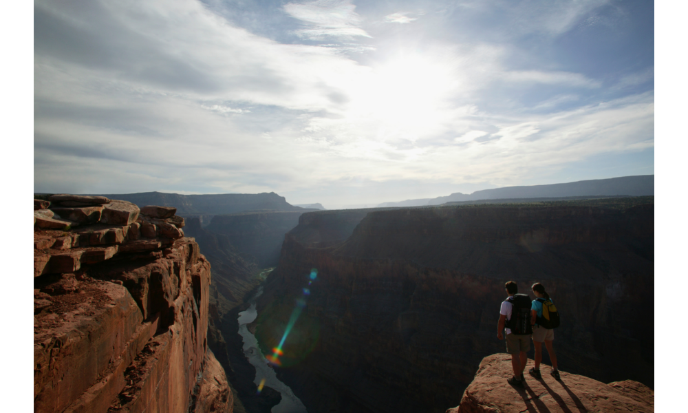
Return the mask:
[(458, 405), (480, 361), (504, 351), (510, 279), (552, 295), (563, 371), (654, 385), (654, 204), (373, 211), (332, 244), (299, 227), (259, 298), (257, 337), (271, 352), (308, 288), (278, 370), (309, 409)]

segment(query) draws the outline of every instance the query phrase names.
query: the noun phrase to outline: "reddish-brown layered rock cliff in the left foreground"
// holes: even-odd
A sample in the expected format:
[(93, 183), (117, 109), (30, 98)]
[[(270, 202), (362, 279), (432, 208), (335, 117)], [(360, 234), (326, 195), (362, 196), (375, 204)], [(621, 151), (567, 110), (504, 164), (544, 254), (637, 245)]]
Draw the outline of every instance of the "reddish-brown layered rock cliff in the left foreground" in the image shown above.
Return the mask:
[(34, 412), (232, 411), (206, 351), (210, 264), (174, 213), (34, 200)]

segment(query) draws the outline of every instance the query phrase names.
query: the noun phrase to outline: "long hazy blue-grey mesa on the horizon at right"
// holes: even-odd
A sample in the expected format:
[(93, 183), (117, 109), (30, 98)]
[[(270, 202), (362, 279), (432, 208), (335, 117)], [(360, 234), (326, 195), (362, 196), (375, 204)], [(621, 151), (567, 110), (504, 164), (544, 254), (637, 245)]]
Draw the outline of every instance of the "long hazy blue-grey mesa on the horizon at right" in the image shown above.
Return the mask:
[(510, 198), (566, 198), (601, 195), (654, 195), (654, 175), (622, 176), (620, 178), (583, 180), (565, 184), (530, 185), (484, 189), (471, 194), (452, 193), (438, 198), (422, 198), (400, 202), (383, 202), (378, 207), (421, 207), (447, 202), (506, 200)]

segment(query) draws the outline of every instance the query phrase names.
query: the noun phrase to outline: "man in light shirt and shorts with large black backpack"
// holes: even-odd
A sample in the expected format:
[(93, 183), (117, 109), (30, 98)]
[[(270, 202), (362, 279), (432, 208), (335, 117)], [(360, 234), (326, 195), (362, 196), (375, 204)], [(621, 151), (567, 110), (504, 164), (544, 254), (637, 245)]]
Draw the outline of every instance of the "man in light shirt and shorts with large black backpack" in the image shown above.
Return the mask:
[[(514, 376), (507, 379), (510, 385), (523, 387), (526, 377), (524, 377), (524, 370), (526, 370), (526, 363), (528, 362), (528, 350), (530, 350), (530, 297), (525, 294), (518, 294), (518, 286), (515, 282), (510, 281), (504, 284), (508, 298), (502, 302), (502, 308), (499, 310), (499, 323), (497, 324), (497, 338), (502, 340), (502, 330), (506, 328), (506, 352), (511, 354), (511, 367), (514, 370)], [(516, 308), (516, 312), (514, 312)], [(525, 310), (524, 310), (525, 308)], [(524, 313), (526, 319), (519, 320), (519, 314)], [(512, 320), (512, 318), (514, 318)], [(521, 317), (523, 318), (523, 317)], [(516, 330), (512, 332), (511, 328)], [(522, 334), (515, 334), (522, 333)]]

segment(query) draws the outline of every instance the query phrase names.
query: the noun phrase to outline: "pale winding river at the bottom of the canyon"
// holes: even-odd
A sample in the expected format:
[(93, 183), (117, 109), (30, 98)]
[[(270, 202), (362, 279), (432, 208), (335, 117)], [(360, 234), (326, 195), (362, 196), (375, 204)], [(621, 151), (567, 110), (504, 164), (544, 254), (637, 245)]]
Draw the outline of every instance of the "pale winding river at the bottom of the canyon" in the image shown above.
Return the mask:
[(260, 297), (263, 293), (263, 287), (258, 288), (258, 292), (250, 299), (250, 308), (246, 311), (241, 311), (239, 313), (239, 335), (244, 339), (244, 355), (256, 368), (256, 377), (254, 383), (259, 385), (261, 379), (265, 379), (265, 385), (269, 388), (277, 390), (282, 395), (282, 400), (278, 405), (272, 407), (270, 410), (272, 413), (306, 413), (307, 410), (301, 400), (297, 396), (294, 396), (294, 392), (289, 388), (288, 385), (282, 383), (277, 379), (275, 370), (268, 365), (268, 361), (265, 359), (263, 353), (258, 347), (258, 341), (254, 335), (248, 331), (246, 324), (249, 324), (258, 317), (258, 312), (256, 310), (256, 299)]

